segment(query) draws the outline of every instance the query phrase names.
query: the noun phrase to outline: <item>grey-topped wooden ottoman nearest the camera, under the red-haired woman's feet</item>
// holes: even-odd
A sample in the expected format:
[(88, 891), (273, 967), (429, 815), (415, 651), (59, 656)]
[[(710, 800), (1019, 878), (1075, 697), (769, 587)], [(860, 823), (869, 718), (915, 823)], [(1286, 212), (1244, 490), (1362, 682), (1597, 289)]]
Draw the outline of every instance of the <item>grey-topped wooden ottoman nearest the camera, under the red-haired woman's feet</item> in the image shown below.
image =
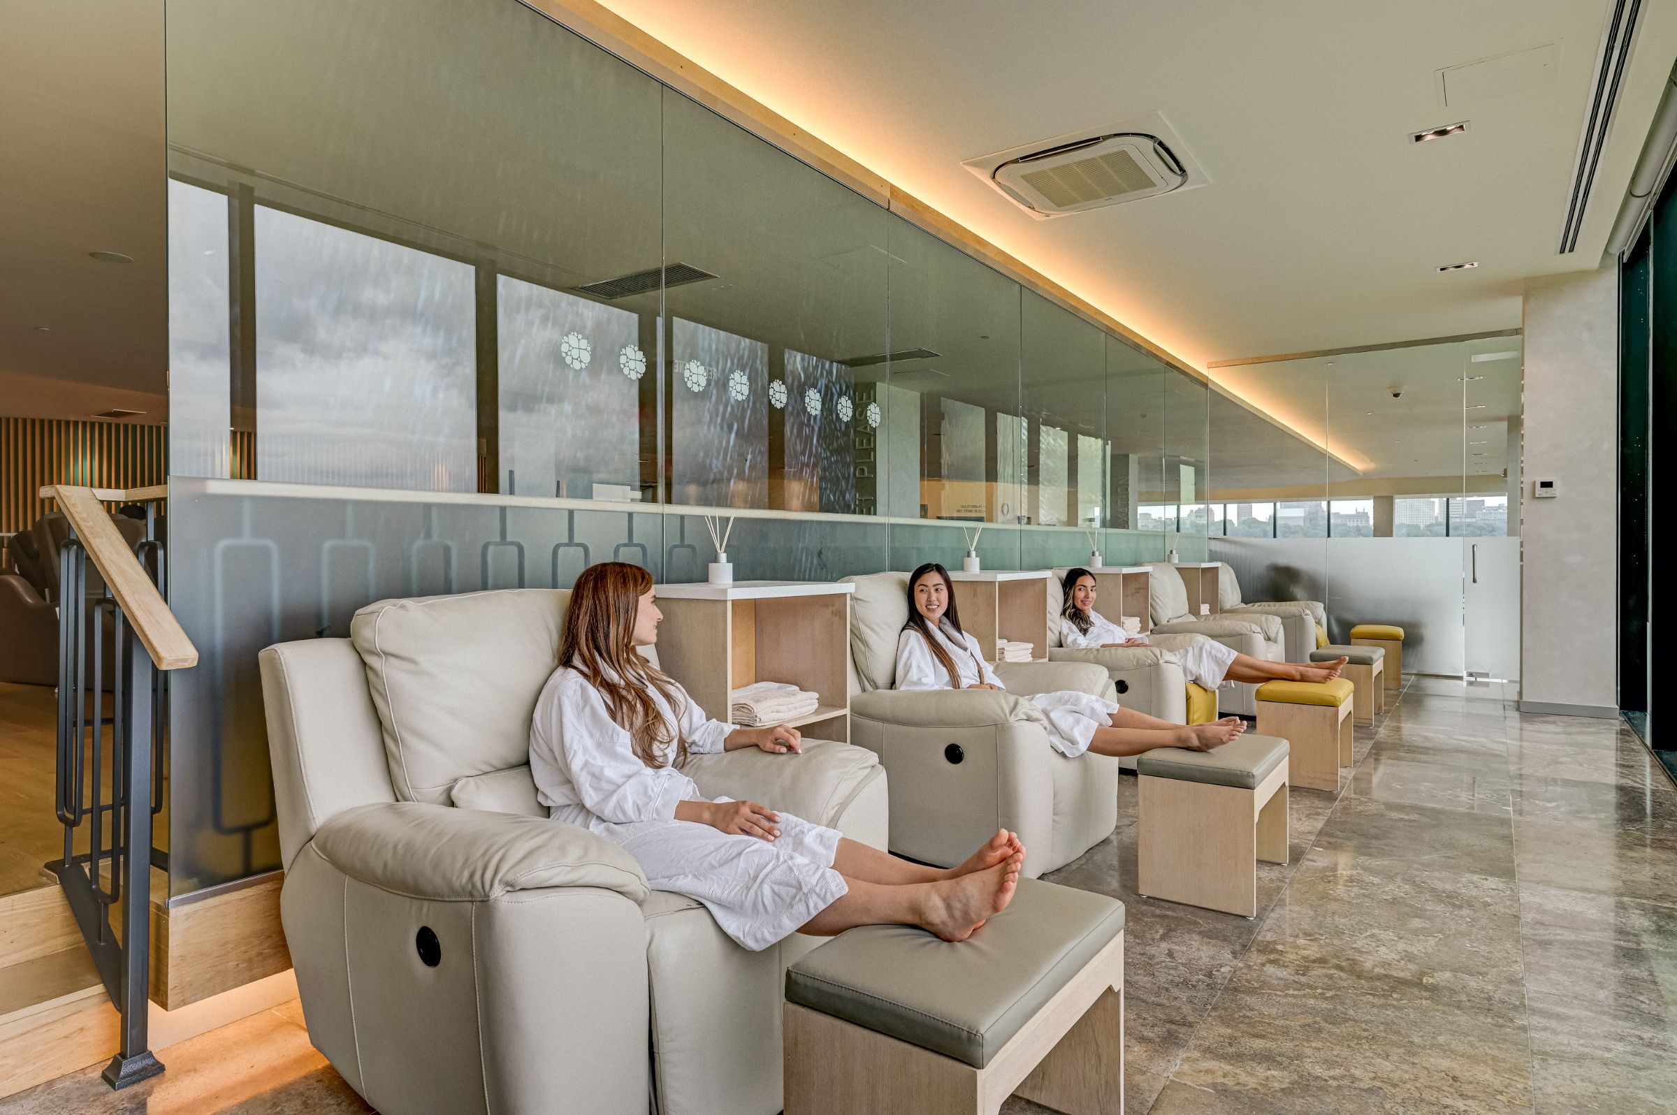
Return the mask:
[(787, 969), (787, 1115), (1124, 1110), (1124, 904), (1021, 879), (959, 944), (844, 932)]

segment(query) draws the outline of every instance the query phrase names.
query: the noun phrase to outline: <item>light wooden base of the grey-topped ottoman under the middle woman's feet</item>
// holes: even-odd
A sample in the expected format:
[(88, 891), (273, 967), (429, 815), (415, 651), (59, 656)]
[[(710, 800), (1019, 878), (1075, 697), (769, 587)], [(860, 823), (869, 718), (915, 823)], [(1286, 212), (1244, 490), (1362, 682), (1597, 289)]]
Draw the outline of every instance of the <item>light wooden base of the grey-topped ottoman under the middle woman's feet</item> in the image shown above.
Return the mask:
[(1135, 889), (1149, 899), (1256, 917), (1258, 860), (1286, 863), (1286, 761), (1254, 790), (1140, 775)]

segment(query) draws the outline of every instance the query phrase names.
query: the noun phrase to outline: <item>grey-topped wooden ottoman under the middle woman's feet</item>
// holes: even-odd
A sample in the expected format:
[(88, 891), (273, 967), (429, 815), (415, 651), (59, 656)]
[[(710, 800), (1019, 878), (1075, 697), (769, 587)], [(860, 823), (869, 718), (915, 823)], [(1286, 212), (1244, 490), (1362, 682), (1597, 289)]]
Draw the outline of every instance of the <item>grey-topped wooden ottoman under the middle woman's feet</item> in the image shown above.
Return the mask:
[(1286, 863), (1286, 739), (1135, 760), (1137, 882), (1149, 899), (1258, 915), (1258, 860)]

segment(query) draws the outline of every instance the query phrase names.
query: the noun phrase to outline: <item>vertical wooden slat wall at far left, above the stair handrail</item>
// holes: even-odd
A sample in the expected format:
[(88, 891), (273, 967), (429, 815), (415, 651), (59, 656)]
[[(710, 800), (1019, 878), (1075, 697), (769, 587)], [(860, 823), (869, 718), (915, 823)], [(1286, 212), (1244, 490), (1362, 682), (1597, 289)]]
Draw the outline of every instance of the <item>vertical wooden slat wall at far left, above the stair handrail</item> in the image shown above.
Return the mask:
[(161, 485), (168, 461), (164, 426), (0, 417), (0, 533), (29, 530), (52, 510), (42, 485)]

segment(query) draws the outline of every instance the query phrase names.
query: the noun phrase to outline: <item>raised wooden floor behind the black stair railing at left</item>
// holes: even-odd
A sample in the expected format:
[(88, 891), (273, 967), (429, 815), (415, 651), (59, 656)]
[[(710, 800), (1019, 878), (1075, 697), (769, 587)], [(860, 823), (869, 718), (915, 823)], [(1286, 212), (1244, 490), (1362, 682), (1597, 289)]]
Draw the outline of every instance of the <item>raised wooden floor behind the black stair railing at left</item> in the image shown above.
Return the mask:
[[(42, 865), (64, 857), (64, 827), (54, 810), (55, 719), (50, 686), (0, 682), (0, 895), (47, 885)], [(106, 778), (109, 785), (109, 751)], [(168, 835), (164, 806), (154, 835), (159, 848), (168, 847)], [(86, 832), (75, 848), (87, 850)]]

